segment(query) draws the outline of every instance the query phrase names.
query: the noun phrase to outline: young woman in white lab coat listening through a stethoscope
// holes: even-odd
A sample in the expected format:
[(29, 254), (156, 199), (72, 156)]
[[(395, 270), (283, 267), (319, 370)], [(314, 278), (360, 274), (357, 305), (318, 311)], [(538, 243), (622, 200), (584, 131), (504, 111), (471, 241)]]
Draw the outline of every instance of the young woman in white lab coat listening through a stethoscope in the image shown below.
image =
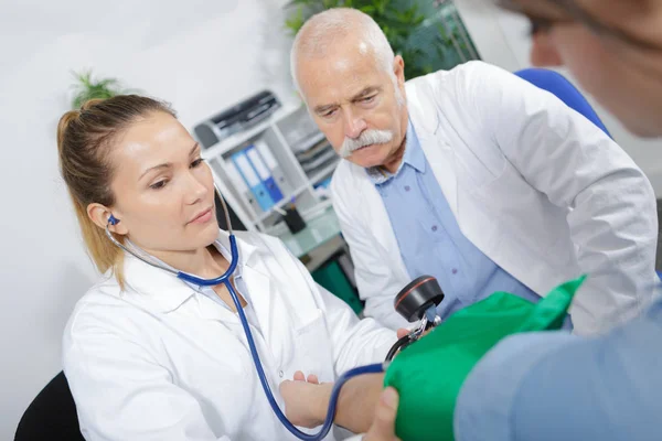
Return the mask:
[[(211, 171), (174, 112), (138, 96), (88, 101), (62, 117), (57, 146), (83, 238), (104, 273), (63, 341), (85, 438), (293, 439), (263, 392), (225, 286), (184, 282), (105, 236), (108, 226), (139, 256), (202, 278), (228, 268)], [(237, 245), (233, 284), (271, 390), (298, 370), (333, 381), (384, 359), (395, 334), (360, 321), (282, 243), (237, 233)]]

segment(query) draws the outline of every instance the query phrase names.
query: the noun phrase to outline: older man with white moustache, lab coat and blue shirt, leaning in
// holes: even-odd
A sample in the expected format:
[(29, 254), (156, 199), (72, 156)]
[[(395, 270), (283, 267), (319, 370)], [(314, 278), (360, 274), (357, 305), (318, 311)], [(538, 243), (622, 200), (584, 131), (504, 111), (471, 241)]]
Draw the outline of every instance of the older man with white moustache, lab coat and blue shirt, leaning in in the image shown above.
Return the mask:
[(431, 275), (441, 318), (508, 291), (537, 301), (590, 276), (577, 334), (639, 314), (655, 280), (650, 183), (590, 121), (481, 62), (405, 85), (404, 61), (366, 14), (312, 17), (291, 51), (295, 82), (344, 158), (331, 185), (365, 312), (408, 325), (393, 298)]

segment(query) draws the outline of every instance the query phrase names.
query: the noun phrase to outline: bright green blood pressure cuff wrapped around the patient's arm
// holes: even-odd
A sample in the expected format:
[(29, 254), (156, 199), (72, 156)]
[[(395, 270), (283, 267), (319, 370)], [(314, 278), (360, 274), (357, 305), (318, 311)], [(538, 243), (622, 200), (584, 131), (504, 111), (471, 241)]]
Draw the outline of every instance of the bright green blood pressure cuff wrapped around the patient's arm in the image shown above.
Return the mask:
[(397, 435), (403, 441), (452, 440), (456, 399), (473, 366), (508, 335), (560, 329), (584, 279), (557, 287), (537, 303), (496, 292), (406, 347), (384, 379), (401, 397)]

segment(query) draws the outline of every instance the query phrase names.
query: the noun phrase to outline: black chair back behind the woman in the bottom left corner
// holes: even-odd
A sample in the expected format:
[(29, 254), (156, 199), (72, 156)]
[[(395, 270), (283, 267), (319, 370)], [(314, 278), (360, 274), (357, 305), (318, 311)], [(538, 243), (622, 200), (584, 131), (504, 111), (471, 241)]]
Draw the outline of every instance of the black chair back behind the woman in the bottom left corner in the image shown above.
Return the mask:
[(23, 413), (14, 441), (85, 441), (78, 426), (74, 397), (60, 373)]

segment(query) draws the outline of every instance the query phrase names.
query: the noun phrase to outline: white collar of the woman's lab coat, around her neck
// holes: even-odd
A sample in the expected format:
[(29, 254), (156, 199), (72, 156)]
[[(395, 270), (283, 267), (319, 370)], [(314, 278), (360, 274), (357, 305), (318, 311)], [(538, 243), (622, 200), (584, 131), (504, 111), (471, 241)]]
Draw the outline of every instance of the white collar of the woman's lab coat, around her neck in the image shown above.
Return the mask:
[[(236, 241), (239, 251), (238, 273), (242, 268), (253, 262), (256, 255), (256, 247), (238, 237), (236, 237)], [(214, 245), (216, 249), (229, 260), (229, 234), (220, 230)], [(156, 263), (173, 269), (156, 257), (147, 255), (130, 243), (127, 244), (127, 247), (141, 257), (146, 257)], [(199, 291), (199, 287), (178, 279), (175, 275), (168, 272), (164, 269), (152, 267), (126, 252), (124, 270), (127, 286), (126, 291), (130, 294), (138, 295), (139, 300), (148, 301), (152, 306), (157, 305), (159, 311), (164, 313), (177, 310)]]

